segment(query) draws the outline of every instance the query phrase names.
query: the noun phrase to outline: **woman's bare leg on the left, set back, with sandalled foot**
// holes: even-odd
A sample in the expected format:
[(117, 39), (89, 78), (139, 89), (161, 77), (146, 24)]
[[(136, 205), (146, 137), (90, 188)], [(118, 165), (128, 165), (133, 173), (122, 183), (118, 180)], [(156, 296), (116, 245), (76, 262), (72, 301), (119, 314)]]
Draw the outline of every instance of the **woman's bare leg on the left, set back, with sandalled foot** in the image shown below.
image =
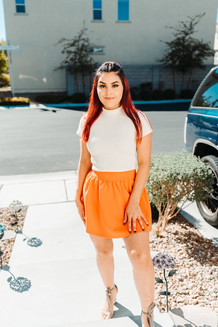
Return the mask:
[[(100, 272), (101, 278), (105, 288), (112, 288), (114, 285), (114, 260), (113, 260), (113, 240), (112, 238), (105, 238), (89, 234), (96, 251), (96, 263)], [(109, 295), (110, 303), (109, 309), (107, 301), (105, 300), (102, 309), (113, 313), (113, 303), (117, 294), (117, 288), (111, 291)], [(106, 296), (105, 296), (106, 298)], [(110, 316), (101, 314), (102, 319), (110, 319)]]

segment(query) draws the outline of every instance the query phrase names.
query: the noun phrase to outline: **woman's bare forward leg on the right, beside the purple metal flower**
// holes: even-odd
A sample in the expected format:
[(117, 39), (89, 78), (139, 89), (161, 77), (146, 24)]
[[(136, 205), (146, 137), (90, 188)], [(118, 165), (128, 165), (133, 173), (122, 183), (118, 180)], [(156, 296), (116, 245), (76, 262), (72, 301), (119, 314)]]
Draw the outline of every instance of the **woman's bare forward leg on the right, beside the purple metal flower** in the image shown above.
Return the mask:
[[(123, 238), (126, 251), (133, 267), (133, 278), (139, 294), (142, 310), (154, 301), (155, 272), (149, 247), (149, 232), (133, 233)], [(154, 315), (151, 315), (154, 318)], [(142, 327), (149, 327), (147, 315), (142, 314)]]

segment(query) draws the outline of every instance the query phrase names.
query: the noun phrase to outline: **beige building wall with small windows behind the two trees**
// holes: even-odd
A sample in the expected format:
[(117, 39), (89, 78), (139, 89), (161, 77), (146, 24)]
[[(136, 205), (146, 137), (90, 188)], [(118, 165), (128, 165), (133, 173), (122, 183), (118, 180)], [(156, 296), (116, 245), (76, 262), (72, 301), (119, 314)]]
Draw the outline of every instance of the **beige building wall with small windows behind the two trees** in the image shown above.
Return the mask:
[[(53, 72), (64, 59), (61, 37), (73, 38), (83, 26), (88, 27), (90, 42), (105, 45), (105, 55), (93, 55), (98, 62), (115, 60), (123, 64), (157, 64), (165, 43), (173, 38), (178, 22), (206, 12), (193, 36), (214, 46), (218, 0), (129, 0), (130, 23), (117, 23), (117, 0), (102, 0), (102, 19), (92, 22), (92, 0), (26, 0), (27, 15), (14, 14), (15, 1), (3, 0), (6, 35), (12, 51), (15, 92), (65, 91), (65, 71)], [(213, 58), (205, 61), (212, 64)]]

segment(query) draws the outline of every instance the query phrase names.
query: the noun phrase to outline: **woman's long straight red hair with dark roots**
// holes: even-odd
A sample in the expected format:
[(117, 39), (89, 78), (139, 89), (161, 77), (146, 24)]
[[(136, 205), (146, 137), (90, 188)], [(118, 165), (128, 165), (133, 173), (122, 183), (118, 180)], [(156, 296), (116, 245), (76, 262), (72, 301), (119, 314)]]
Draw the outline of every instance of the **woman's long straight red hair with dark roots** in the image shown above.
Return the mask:
[[(136, 143), (138, 145), (142, 142), (142, 135), (143, 135), (142, 134), (143, 133), (142, 123), (141, 123), (141, 120), (138, 115), (138, 112), (140, 110), (136, 109), (136, 107), (134, 106), (134, 104), (132, 102), (130, 90), (129, 90), (129, 84), (128, 84), (128, 81), (126, 79), (123, 69), (121, 68), (121, 66), (118, 63), (116, 63), (114, 61), (104, 62), (95, 72), (92, 91), (90, 93), (89, 108), (86, 113), (86, 120), (85, 120), (85, 123), (83, 126), (82, 141), (83, 142), (88, 141), (89, 134), (90, 134), (90, 128), (102, 111), (103, 104), (99, 100), (99, 97), (97, 94), (97, 82), (98, 82), (100, 75), (105, 72), (106, 73), (109, 73), (109, 72), (116, 73), (122, 81), (124, 90), (123, 90), (123, 96), (121, 99), (121, 105), (122, 105), (123, 110), (126, 113), (126, 115), (132, 120), (133, 124), (135, 125)], [(141, 112), (141, 113), (143, 114), (143, 112)], [(145, 115), (145, 118), (149, 122), (146, 115)], [(149, 122), (149, 124), (150, 124), (150, 122)], [(150, 124), (150, 126), (151, 126), (151, 124)]]

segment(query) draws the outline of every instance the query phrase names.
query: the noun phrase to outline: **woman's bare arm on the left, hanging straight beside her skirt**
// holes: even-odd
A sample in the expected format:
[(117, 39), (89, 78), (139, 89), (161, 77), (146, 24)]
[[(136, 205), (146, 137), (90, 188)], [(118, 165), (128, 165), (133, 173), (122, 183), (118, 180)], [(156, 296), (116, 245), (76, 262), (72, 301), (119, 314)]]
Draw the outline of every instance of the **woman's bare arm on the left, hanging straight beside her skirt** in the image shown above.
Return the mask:
[(92, 169), (91, 163), (91, 154), (87, 149), (87, 144), (80, 140), (80, 158), (78, 163), (78, 171), (77, 171), (77, 181), (76, 181), (76, 191), (75, 191), (75, 203), (77, 206), (78, 213), (85, 224), (85, 208), (82, 203), (82, 189), (83, 184), (88, 172)]

